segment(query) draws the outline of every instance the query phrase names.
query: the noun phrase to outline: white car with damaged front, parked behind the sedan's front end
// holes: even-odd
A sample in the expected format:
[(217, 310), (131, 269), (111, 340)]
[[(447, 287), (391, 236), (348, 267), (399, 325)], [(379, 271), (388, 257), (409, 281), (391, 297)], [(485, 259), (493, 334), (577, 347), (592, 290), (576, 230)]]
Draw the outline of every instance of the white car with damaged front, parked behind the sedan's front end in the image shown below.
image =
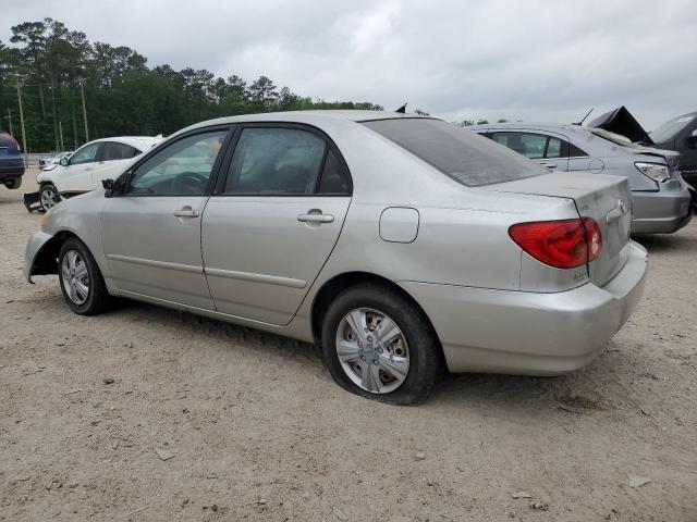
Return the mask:
[(48, 165), (36, 177), (38, 200), (48, 210), (61, 199), (101, 187), (101, 181), (120, 175), (143, 152), (162, 141), (162, 136), (121, 136), (90, 141), (69, 159)]

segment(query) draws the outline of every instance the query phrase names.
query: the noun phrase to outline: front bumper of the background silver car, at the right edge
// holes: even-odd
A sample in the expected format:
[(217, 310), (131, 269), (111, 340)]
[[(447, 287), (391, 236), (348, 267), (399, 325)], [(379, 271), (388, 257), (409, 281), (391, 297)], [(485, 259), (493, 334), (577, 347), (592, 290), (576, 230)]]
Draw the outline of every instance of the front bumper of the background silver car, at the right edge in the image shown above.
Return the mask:
[(693, 216), (692, 194), (677, 187), (661, 188), (658, 192), (632, 192), (632, 234), (672, 234), (685, 226)]

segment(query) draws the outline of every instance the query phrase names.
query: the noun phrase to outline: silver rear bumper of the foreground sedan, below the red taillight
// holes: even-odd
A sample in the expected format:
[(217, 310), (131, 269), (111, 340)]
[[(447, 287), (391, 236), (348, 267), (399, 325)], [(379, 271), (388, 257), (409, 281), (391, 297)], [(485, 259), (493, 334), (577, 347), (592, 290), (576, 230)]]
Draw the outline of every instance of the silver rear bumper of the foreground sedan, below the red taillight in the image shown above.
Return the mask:
[(539, 294), (402, 282), (424, 308), (452, 372), (557, 375), (590, 362), (636, 309), (648, 269), (632, 243), (624, 268), (591, 283)]

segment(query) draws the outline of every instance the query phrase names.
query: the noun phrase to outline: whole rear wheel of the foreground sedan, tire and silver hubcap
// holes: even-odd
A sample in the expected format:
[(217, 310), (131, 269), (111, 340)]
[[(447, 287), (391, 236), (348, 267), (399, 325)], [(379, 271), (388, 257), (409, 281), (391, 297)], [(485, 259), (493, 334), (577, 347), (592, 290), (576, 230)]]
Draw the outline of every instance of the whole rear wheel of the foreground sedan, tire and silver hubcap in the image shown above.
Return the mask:
[(342, 291), (323, 318), (321, 344), (337, 384), (382, 402), (424, 401), (442, 369), (440, 345), (424, 312), (381, 284)]

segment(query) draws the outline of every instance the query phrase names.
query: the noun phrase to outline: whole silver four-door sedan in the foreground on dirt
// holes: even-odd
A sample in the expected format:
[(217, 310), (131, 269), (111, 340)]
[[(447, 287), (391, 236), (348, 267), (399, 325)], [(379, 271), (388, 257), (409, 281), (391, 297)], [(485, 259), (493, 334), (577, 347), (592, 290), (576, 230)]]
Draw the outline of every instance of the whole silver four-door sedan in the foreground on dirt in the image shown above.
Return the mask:
[(414, 403), (444, 369), (588, 363), (644, 287), (629, 200), (429, 117), (225, 117), (47, 212), (25, 276), (78, 314), (121, 296), (314, 341), (345, 389)]

